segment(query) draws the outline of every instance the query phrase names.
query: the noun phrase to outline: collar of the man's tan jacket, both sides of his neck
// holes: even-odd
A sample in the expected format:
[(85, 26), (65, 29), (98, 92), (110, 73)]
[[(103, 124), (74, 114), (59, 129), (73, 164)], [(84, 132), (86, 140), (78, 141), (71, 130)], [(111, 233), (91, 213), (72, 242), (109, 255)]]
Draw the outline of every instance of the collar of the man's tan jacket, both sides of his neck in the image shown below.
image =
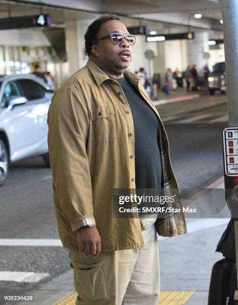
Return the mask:
[[(102, 82), (104, 82), (107, 79), (111, 79), (106, 73), (103, 72), (102, 69), (99, 68), (99, 66), (92, 60), (88, 59), (86, 63), (86, 67), (91, 71), (93, 74), (95, 81), (97, 85), (100, 85)], [(125, 70), (124, 72), (125, 77), (130, 81), (130, 82), (139, 82), (139, 76), (136, 74), (132, 73), (130, 70)]]

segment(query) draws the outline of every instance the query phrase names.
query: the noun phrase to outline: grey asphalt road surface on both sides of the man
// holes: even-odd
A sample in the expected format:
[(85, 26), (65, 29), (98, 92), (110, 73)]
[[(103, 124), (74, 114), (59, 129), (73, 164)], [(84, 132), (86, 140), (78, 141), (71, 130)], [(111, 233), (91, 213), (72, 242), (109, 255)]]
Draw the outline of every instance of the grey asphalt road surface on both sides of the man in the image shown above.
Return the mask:
[[(157, 109), (168, 133), (180, 189), (198, 189), (220, 176), (221, 133), (227, 126), (226, 96), (202, 97)], [(40, 157), (10, 167), (8, 180), (0, 188), (0, 238), (58, 238), (51, 171)], [(68, 253), (62, 247), (0, 246), (0, 272), (48, 274), (36, 283), (0, 281), (0, 304), (4, 304), (4, 295), (30, 294), (69, 269)]]

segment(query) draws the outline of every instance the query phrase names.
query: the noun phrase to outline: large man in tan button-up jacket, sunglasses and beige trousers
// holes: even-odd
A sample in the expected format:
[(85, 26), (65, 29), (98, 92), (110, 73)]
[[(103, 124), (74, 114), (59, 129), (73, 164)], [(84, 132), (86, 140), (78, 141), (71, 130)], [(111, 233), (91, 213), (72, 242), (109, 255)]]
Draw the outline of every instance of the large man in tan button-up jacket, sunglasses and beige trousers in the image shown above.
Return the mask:
[(156, 231), (186, 233), (183, 213), (157, 220), (114, 214), (114, 189), (162, 185), (182, 207), (158, 112), (127, 70), (134, 42), (118, 17), (95, 20), (85, 34), (86, 66), (56, 92), (48, 113), (58, 230), (79, 305), (156, 305)]

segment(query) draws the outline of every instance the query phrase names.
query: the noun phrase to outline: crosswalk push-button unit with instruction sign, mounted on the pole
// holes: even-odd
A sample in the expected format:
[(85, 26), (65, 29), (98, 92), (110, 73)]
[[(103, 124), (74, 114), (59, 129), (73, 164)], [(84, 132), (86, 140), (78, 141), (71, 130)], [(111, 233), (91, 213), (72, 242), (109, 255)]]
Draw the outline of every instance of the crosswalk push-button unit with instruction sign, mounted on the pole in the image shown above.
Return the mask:
[(232, 218), (238, 218), (238, 127), (223, 130), (225, 196)]

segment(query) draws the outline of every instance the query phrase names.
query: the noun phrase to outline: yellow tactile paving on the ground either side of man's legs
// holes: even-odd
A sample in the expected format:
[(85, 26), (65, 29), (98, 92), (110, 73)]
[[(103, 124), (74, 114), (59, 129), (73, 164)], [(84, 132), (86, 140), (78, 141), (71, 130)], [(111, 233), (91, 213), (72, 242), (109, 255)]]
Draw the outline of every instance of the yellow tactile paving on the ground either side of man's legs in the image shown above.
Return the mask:
[[(158, 305), (182, 305), (187, 302), (195, 291), (161, 291)], [(75, 305), (77, 293), (73, 293), (56, 305)]]

